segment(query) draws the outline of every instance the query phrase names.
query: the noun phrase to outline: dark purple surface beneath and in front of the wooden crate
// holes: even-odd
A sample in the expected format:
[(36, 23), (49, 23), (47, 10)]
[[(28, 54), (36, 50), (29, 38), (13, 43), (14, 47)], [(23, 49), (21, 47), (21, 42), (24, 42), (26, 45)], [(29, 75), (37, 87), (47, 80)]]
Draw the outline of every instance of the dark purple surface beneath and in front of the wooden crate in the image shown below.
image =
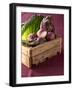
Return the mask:
[(22, 77), (34, 77), (34, 76), (57, 76), (64, 75), (64, 54), (49, 58), (38, 66), (33, 65), (31, 69), (25, 65), (21, 65)]

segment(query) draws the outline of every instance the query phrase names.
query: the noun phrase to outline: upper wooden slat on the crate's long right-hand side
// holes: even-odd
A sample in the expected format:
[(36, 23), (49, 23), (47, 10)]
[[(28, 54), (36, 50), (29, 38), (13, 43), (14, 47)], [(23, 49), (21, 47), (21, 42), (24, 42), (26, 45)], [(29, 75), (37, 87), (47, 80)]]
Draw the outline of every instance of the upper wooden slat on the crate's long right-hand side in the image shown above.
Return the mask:
[(58, 39), (55, 39), (55, 40), (52, 40), (49, 42), (45, 42), (44, 44), (41, 44), (41, 45), (38, 45), (38, 46), (32, 48), (32, 56), (36, 56), (56, 45), (60, 46), (60, 40), (61, 40), (61, 38), (58, 38)]

